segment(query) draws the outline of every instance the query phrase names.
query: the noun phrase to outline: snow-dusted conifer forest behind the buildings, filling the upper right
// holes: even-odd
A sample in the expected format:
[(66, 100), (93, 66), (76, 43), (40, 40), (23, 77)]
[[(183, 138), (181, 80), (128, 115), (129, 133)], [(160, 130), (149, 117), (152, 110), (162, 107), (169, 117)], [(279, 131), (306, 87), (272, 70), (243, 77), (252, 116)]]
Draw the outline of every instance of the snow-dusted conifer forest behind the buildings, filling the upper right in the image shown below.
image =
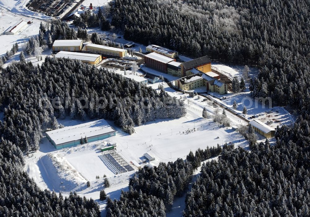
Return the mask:
[(253, 97), (310, 113), (310, 2), (115, 0), (112, 25), (124, 38), (192, 57), (259, 67)]

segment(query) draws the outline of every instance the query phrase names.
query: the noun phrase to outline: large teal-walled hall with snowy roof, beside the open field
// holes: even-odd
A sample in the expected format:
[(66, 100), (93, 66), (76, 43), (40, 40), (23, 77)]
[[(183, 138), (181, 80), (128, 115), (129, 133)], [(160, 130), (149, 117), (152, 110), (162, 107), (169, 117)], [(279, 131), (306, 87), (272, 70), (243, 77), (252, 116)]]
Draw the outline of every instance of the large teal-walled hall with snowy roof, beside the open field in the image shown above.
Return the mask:
[(47, 138), (57, 148), (65, 148), (80, 144), (81, 137), (88, 142), (115, 136), (116, 131), (104, 119), (64, 127), (46, 132)]

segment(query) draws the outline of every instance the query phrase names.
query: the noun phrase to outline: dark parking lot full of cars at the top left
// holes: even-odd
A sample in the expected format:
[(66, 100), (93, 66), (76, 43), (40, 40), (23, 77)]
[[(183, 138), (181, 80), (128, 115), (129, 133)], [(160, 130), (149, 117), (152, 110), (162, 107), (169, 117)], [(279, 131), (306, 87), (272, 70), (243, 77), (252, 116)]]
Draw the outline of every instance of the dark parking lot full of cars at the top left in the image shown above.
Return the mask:
[(75, 4), (77, 4), (75, 0), (30, 0), (26, 7), (31, 11), (57, 17)]

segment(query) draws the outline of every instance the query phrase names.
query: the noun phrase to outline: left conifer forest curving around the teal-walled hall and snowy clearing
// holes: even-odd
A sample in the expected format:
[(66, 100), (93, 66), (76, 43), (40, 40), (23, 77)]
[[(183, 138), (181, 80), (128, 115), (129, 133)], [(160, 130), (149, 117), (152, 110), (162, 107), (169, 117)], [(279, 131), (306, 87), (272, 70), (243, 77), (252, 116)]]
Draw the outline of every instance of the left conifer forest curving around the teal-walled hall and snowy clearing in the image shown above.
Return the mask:
[[(135, 125), (186, 114), (184, 102), (170, 97), (163, 89), (157, 92), (121, 75), (69, 59), (46, 58), (41, 66), (13, 63), (2, 70), (0, 84), (0, 101), (6, 106), (0, 126), (1, 216), (100, 215), (94, 200), (75, 193), (63, 198), (42, 191), (22, 171), (22, 151), (38, 150), (42, 133), (61, 127), (56, 118), (83, 120), (88, 115), (92, 119), (111, 119), (132, 133)], [(84, 101), (80, 102), (80, 97)], [(107, 106), (103, 106), (103, 100), (98, 101), (100, 97), (108, 100)], [(118, 99), (126, 97), (132, 99), (132, 106), (117, 106)], [(48, 98), (55, 99), (56, 108)]]

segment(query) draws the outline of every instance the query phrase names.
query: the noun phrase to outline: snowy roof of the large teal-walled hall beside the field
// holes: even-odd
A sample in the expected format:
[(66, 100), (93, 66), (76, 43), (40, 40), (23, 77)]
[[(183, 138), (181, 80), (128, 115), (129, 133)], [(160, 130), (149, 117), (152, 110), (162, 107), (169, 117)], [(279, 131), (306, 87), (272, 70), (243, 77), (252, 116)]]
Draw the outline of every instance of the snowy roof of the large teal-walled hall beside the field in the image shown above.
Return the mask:
[(56, 145), (59, 145), (65, 142), (79, 140), (81, 137), (93, 137), (109, 132), (115, 132), (115, 130), (106, 122), (106, 120), (100, 119), (84, 124), (51, 130), (46, 132), (46, 134)]

